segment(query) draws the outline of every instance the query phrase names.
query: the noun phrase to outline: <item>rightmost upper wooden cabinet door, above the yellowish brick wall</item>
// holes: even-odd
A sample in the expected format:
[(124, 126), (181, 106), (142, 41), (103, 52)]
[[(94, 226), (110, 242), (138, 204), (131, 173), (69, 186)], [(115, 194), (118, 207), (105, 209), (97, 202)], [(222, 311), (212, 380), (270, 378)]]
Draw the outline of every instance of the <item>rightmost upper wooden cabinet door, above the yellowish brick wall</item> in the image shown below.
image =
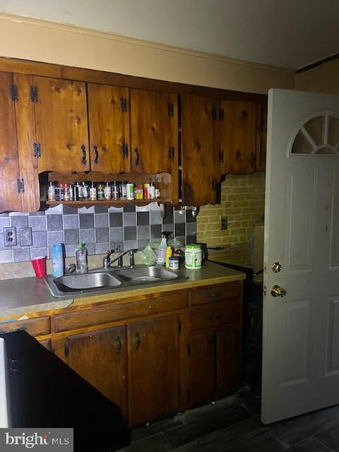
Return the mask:
[(256, 103), (223, 101), (222, 174), (256, 169)]

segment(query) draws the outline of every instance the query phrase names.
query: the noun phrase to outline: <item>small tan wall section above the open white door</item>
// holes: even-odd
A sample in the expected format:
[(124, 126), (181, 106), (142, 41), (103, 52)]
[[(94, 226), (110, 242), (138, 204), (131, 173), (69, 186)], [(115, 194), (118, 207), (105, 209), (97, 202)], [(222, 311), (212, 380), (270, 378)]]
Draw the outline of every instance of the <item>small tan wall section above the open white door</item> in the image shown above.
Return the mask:
[(295, 89), (314, 93), (339, 93), (339, 59), (328, 61), (309, 71), (297, 73)]

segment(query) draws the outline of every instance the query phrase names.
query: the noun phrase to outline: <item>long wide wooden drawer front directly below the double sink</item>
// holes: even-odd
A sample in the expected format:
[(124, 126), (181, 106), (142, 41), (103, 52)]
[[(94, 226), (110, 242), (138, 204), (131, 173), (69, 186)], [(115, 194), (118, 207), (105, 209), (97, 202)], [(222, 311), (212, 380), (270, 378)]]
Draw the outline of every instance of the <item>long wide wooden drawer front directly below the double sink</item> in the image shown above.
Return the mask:
[(118, 304), (105, 305), (104, 307), (95, 307), (92, 309), (83, 309), (81, 311), (57, 314), (54, 316), (55, 332), (83, 328), (85, 326), (100, 325), (108, 323), (133, 319), (133, 317), (147, 316), (157, 314), (158, 312), (174, 311), (187, 306), (187, 295), (181, 293), (169, 297), (153, 297), (138, 302), (125, 302)]

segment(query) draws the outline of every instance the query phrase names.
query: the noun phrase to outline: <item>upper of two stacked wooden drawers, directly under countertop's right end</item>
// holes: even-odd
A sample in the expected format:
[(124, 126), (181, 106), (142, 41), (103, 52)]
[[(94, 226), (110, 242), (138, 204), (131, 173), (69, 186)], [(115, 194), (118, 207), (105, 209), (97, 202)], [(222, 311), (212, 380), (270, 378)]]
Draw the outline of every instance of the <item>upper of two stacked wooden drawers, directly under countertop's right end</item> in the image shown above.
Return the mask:
[(210, 285), (189, 292), (190, 306), (210, 302), (218, 302), (224, 299), (240, 298), (242, 296), (242, 283), (239, 281), (227, 284)]

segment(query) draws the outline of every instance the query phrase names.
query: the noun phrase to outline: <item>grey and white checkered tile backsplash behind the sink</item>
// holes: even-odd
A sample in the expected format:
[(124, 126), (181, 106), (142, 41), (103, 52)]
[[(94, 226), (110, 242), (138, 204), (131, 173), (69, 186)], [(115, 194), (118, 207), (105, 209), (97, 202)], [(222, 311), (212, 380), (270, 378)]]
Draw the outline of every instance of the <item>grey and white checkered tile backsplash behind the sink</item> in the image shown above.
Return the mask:
[[(54, 243), (64, 243), (66, 257), (75, 256), (76, 244), (83, 243), (88, 254), (103, 254), (107, 249), (143, 249), (150, 240), (160, 240), (162, 231), (182, 244), (196, 242), (196, 218), (191, 208), (176, 210), (167, 206), (165, 217), (157, 203), (148, 206), (107, 208), (90, 206), (74, 209), (59, 206), (35, 213), (0, 215), (0, 263), (30, 261), (37, 256), (50, 258)], [(15, 227), (13, 245), (5, 246), (6, 227)]]

